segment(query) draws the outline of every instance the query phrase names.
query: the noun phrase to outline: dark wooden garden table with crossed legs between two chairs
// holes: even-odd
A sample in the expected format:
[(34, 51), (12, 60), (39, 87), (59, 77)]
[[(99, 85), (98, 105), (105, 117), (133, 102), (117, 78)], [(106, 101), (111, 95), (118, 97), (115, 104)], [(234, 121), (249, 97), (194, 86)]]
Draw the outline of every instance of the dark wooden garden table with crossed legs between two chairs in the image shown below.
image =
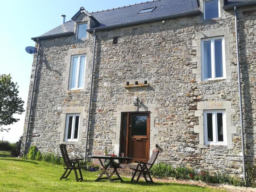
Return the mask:
[[(100, 174), (100, 176), (95, 181), (99, 181), (99, 180), (103, 180), (103, 179), (107, 180), (108, 179), (110, 182), (116, 181), (116, 180), (120, 180), (121, 182), (123, 182), (122, 178), (120, 177), (120, 175), (117, 172), (117, 168), (120, 166), (121, 160), (132, 160), (133, 159), (131, 157), (112, 157), (112, 156), (89, 156), (89, 157), (92, 158), (92, 159), (98, 159), (100, 161), (101, 166), (102, 166), (102, 173)], [(108, 164), (106, 164), (104, 166), (104, 164), (102, 163), (102, 159), (109, 160)], [(117, 166), (114, 164), (114, 160), (119, 160)], [(110, 164), (114, 168), (114, 171), (109, 175), (108, 172), (107, 172), (107, 168), (108, 168), (108, 166), (110, 166)], [(111, 179), (111, 177), (113, 176), (114, 173), (116, 173), (118, 178)], [(104, 174), (107, 177), (102, 177)]]

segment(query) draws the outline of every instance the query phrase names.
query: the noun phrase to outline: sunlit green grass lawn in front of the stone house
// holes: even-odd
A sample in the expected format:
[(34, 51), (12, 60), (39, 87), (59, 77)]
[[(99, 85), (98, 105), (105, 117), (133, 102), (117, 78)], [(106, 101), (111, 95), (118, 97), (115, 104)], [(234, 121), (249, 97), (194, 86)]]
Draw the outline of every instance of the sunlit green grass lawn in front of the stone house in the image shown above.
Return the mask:
[(68, 179), (59, 180), (64, 172), (62, 166), (46, 162), (10, 158), (9, 152), (0, 152), (0, 192), (217, 192), (210, 188), (173, 183), (156, 182), (154, 186), (139, 182), (94, 182), (97, 173), (83, 171), (84, 181), (76, 182), (74, 172)]

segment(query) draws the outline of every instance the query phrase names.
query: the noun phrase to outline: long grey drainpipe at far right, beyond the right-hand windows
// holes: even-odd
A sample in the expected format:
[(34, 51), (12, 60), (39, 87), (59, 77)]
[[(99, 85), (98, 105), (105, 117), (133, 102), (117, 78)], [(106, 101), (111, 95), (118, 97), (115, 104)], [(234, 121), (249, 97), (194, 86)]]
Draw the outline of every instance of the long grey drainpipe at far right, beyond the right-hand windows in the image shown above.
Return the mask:
[(238, 91), (239, 91), (239, 107), (240, 107), (240, 124), (241, 124), (241, 138), (242, 138), (242, 157), (243, 157), (243, 174), (244, 182), (246, 184), (246, 168), (245, 168), (245, 152), (244, 152), (244, 122), (242, 112), (242, 93), (241, 93), (241, 78), (240, 78), (240, 61), (239, 61), (239, 45), (238, 45), (238, 28), (237, 28), (237, 13), (236, 6), (234, 7), (235, 26), (236, 26), (236, 60), (237, 60), (237, 73), (238, 73)]

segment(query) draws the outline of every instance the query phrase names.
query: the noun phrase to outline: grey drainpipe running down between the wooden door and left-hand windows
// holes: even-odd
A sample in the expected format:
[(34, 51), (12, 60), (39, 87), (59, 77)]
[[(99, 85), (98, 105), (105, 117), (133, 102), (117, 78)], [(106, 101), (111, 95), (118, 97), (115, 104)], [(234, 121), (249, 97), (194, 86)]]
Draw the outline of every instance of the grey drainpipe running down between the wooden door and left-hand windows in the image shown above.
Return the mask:
[(93, 82), (94, 56), (95, 56), (95, 46), (96, 46), (95, 29), (93, 31), (93, 34), (94, 34), (94, 44), (93, 44), (93, 55), (92, 55), (92, 75), (91, 75), (90, 100), (89, 100), (89, 109), (88, 109), (88, 122), (87, 122), (87, 134), (86, 134), (86, 146), (85, 146), (84, 160), (87, 159), (87, 148), (88, 148), (89, 129), (90, 129), (90, 116), (91, 116), (91, 103), (92, 103), (92, 82)]

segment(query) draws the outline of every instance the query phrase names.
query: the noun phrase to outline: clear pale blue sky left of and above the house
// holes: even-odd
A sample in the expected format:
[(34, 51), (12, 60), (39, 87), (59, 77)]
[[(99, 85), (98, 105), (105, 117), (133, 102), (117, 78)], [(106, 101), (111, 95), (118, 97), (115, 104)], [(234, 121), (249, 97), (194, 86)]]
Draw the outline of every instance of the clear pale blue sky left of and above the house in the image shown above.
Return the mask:
[[(61, 15), (70, 20), (80, 7), (88, 12), (117, 8), (145, 0), (8, 0), (0, 6), (0, 74), (10, 74), (18, 83), (19, 96), (28, 100), (33, 55), (25, 52), (26, 46), (34, 46), (32, 37), (37, 37), (61, 24)], [(30, 99), (30, 98), (29, 98)], [(20, 120), (0, 132), (0, 140), (18, 141), (24, 128), (25, 112), (15, 115)]]

